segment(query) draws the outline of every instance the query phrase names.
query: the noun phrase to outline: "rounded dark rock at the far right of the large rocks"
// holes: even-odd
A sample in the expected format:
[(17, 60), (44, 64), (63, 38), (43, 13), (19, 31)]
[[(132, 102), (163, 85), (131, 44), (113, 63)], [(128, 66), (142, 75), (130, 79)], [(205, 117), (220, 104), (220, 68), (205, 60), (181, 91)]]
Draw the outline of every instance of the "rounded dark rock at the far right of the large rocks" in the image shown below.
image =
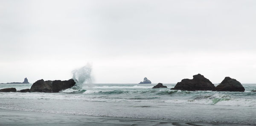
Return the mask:
[(225, 77), (225, 79), (216, 86), (214, 91), (230, 91), (230, 92), (244, 92), (244, 87), (236, 79)]

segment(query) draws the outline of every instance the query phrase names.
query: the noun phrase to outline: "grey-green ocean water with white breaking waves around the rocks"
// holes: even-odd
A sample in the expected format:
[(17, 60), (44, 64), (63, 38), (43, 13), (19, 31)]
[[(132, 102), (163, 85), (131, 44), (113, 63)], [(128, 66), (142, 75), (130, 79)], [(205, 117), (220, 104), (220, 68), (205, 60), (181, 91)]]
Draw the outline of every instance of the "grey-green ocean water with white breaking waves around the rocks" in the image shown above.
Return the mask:
[[(151, 89), (155, 85), (86, 84), (81, 89), (66, 89), (59, 93), (0, 92), (0, 109), (16, 113), (256, 125), (256, 92), (251, 92), (256, 90), (256, 84), (242, 84), (245, 92), (170, 90), (175, 84)], [(21, 90), (31, 86), (0, 84), (0, 89), (15, 87)], [(0, 119), (0, 124), (6, 120), (8, 118)]]

